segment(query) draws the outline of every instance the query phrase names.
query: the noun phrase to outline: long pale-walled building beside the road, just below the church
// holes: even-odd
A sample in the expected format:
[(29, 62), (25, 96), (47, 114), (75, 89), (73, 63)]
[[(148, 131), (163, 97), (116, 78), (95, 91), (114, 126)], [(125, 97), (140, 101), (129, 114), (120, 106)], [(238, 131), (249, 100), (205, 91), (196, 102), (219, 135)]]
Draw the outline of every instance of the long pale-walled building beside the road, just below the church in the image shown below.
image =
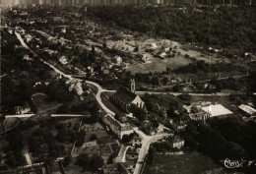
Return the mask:
[(133, 133), (133, 129), (129, 123), (120, 123), (112, 115), (107, 114), (102, 118), (102, 121), (110, 128), (119, 139), (122, 139), (124, 135), (130, 135)]

